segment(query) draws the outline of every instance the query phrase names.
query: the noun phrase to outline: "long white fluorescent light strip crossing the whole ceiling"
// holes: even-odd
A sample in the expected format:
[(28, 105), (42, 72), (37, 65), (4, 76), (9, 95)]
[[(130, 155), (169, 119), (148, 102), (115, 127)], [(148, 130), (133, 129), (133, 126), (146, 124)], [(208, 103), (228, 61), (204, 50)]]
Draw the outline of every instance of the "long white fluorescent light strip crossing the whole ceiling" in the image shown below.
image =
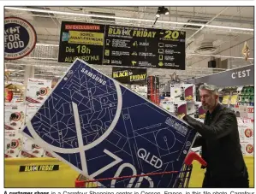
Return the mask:
[[(91, 17), (99, 17), (99, 18), (108, 18), (108, 19), (118, 19), (124, 21), (146, 21), (146, 22), (155, 22), (152, 20), (139, 19), (139, 18), (128, 18), (128, 17), (118, 17), (118, 16), (110, 16), (110, 15), (91, 15), (91, 14), (81, 14), (81, 13), (71, 13), (71, 12), (63, 12), (63, 11), (52, 11), (45, 9), (27, 9), (27, 8), (15, 8), (15, 7), (5, 7), (4, 9), (12, 9), (12, 10), (20, 10), (20, 11), (34, 11), (40, 13), (49, 13), (56, 15), (76, 15), (76, 16), (91, 16)], [(158, 23), (163, 24), (177, 24), (177, 25), (193, 25), (193, 26), (205, 26), (211, 28), (223, 28), (229, 30), (240, 30), (240, 31), (248, 31), (253, 32), (253, 28), (243, 28), (243, 27), (232, 27), (232, 26), (214, 26), (214, 25), (205, 25), (205, 24), (196, 24), (196, 23), (188, 23), (188, 22), (176, 22), (176, 21), (158, 21)]]

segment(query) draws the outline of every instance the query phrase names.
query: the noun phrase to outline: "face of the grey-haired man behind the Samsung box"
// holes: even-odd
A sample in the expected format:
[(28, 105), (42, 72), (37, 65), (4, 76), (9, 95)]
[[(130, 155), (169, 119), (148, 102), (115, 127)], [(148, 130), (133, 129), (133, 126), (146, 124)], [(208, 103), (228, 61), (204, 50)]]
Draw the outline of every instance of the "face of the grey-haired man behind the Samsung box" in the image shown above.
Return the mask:
[(214, 95), (211, 91), (207, 90), (200, 90), (199, 93), (203, 109), (213, 109), (216, 105), (217, 95)]

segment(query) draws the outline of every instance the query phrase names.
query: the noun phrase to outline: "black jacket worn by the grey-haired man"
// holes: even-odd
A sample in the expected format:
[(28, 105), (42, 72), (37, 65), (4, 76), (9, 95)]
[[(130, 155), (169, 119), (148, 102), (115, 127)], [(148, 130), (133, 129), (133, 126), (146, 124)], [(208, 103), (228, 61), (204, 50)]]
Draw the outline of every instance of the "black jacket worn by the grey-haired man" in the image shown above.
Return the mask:
[(207, 162), (207, 172), (212, 177), (236, 177), (247, 172), (241, 153), (238, 125), (235, 113), (220, 103), (205, 122), (196, 121), (186, 115), (183, 118), (201, 136), (196, 138), (193, 147), (202, 146), (202, 157)]

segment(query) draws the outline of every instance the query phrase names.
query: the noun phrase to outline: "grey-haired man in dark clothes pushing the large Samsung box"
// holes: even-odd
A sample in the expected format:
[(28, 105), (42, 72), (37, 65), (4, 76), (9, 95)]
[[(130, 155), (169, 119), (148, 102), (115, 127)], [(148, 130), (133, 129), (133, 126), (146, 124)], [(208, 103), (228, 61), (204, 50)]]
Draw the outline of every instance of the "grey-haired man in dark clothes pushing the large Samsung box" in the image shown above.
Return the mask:
[(219, 103), (218, 91), (213, 85), (200, 85), (199, 95), (207, 110), (204, 123), (188, 115), (183, 120), (200, 135), (193, 147), (202, 146), (202, 157), (207, 162), (202, 187), (249, 187), (235, 113)]

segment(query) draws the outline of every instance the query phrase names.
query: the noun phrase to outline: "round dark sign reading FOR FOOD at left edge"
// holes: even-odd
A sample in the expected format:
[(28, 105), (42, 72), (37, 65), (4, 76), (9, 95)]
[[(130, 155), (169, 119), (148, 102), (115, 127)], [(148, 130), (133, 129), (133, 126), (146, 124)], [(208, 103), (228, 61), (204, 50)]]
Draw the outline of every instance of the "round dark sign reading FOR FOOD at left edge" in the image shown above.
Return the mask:
[(33, 26), (17, 17), (4, 19), (4, 59), (27, 56), (34, 49), (37, 35)]

